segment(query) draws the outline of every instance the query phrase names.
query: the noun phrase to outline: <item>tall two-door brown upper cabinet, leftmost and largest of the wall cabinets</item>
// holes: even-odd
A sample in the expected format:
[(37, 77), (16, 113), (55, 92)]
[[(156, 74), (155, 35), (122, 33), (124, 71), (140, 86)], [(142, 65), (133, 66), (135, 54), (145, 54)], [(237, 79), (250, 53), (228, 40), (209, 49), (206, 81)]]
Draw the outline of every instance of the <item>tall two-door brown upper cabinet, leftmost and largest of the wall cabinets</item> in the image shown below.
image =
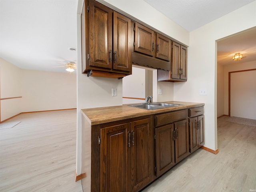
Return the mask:
[[(82, 70), (88, 73), (132, 74), (131, 20), (94, 1), (85, 2), (82, 12)], [(100, 73), (102, 71), (105, 73)], [(111, 73), (106, 73), (111, 72)]]

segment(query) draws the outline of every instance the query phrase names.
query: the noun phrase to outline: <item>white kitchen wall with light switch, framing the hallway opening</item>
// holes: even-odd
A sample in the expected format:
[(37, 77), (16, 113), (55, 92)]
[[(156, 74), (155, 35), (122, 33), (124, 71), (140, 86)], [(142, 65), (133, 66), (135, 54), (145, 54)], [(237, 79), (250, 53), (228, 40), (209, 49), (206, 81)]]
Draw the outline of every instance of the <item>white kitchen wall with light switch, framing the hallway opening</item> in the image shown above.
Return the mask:
[[(188, 81), (174, 84), (174, 100), (205, 103), (204, 146), (210, 149), (218, 148), (216, 40), (254, 26), (256, 1), (190, 32)], [(200, 96), (201, 88), (207, 89), (208, 95)]]

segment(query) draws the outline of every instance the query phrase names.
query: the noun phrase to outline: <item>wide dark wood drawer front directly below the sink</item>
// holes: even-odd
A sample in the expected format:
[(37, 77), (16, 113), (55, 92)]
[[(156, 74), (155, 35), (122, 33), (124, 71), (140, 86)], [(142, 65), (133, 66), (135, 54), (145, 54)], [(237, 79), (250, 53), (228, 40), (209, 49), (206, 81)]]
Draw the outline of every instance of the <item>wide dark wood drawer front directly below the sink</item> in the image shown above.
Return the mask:
[(188, 117), (188, 110), (179, 110), (164, 114), (155, 115), (155, 127), (166, 125), (172, 122), (186, 119)]

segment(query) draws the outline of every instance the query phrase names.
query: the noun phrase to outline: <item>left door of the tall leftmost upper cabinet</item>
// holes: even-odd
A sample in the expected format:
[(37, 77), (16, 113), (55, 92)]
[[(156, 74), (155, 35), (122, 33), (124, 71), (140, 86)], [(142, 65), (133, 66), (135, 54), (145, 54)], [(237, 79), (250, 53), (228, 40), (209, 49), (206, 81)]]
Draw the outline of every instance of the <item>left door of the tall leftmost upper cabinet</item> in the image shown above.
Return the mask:
[(90, 66), (112, 69), (112, 10), (89, 3)]

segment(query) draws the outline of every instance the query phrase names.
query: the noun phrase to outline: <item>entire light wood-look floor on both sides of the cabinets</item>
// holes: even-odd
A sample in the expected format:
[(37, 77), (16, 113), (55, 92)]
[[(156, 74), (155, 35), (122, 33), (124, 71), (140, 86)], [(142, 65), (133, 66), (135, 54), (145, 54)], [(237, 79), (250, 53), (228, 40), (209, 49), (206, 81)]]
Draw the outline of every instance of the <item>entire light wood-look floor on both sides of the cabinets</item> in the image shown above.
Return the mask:
[[(0, 192), (82, 192), (75, 182), (76, 110), (21, 114), (0, 130)], [(218, 119), (215, 155), (199, 149), (143, 192), (256, 190), (256, 127)]]

